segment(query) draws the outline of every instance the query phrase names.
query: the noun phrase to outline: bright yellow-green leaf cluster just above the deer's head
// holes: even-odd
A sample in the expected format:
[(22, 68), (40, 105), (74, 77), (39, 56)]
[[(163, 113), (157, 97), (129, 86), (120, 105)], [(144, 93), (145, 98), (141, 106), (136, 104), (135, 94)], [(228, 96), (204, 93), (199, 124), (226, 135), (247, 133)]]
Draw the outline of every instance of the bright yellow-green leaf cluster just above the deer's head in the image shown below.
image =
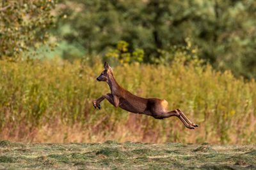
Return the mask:
[(132, 62), (142, 62), (144, 57), (144, 51), (136, 48), (132, 53), (127, 52), (129, 44), (125, 41), (118, 41), (116, 49), (109, 49), (106, 53), (106, 58), (119, 61), (121, 64), (127, 64)]

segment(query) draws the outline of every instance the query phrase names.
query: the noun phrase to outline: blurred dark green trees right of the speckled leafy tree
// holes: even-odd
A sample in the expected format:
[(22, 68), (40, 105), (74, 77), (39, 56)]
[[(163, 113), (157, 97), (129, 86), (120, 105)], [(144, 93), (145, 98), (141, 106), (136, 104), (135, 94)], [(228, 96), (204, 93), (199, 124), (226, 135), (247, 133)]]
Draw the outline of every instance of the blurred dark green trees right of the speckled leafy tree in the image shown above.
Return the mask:
[(63, 0), (60, 6), (56, 35), (83, 46), (90, 55), (104, 56), (108, 48), (124, 40), (129, 51), (145, 52), (143, 62), (166, 63), (163, 51), (186, 46), (189, 37), (198, 46), (198, 57), (214, 68), (255, 78), (253, 0)]

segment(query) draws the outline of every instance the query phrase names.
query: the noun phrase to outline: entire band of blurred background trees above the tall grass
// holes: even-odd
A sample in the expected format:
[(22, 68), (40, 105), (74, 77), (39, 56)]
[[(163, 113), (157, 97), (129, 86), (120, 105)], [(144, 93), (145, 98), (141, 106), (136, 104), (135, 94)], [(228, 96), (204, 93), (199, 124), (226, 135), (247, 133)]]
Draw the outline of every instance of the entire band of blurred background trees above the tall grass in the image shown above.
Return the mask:
[[(256, 77), (256, 1), (60, 0), (53, 10), (55, 3), (1, 1), (0, 55), (13, 56), (40, 44), (41, 50), (47, 48), (44, 44), (53, 49), (58, 43), (54, 53), (38, 55), (58, 53), (68, 60), (112, 55), (121, 63), (168, 64), (173, 52), (189, 46), (216, 69)], [(127, 52), (117, 48), (122, 41)], [(133, 52), (140, 59), (131, 60)]]

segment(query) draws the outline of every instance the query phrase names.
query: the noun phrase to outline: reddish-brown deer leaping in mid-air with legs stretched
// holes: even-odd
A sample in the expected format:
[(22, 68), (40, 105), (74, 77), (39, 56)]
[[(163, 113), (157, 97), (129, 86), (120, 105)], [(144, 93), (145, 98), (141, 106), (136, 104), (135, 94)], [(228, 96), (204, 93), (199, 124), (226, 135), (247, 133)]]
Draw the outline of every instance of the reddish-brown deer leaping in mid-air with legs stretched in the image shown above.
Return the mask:
[(198, 125), (193, 124), (180, 109), (168, 111), (168, 102), (164, 99), (143, 98), (131, 94), (131, 92), (125, 90), (117, 83), (112, 69), (107, 62), (105, 62), (104, 68), (104, 71), (102, 71), (97, 80), (107, 81), (111, 94), (103, 94), (101, 97), (94, 100), (92, 104), (95, 109), (100, 109), (100, 102), (107, 99), (109, 103), (113, 104), (116, 108), (120, 107), (132, 113), (149, 115), (157, 119), (178, 117), (188, 129), (198, 127)]

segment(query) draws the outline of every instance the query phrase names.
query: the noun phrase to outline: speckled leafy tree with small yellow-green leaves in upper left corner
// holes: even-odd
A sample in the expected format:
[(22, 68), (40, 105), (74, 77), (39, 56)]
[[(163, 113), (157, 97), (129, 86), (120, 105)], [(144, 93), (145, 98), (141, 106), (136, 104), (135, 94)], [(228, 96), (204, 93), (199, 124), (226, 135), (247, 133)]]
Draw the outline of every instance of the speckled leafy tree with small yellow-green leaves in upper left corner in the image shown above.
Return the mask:
[(0, 57), (15, 57), (29, 47), (49, 43), (49, 27), (54, 25), (51, 13), (56, 0), (2, 0), (0, 3)]

